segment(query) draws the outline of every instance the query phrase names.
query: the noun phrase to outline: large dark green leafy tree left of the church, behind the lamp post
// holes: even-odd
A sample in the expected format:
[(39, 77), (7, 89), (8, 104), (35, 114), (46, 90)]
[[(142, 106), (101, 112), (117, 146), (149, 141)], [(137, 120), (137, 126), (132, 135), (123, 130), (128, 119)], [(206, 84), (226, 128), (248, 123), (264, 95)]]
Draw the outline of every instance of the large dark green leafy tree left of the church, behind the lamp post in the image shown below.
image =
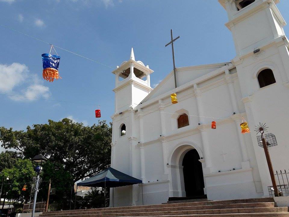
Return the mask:
[[(55, 187), (58, 194), (52, 198), (69, 198), (76, 181), (95, 175), (109, 166), (111, 134), (111, 123), (108, 125), (105, 121), (99, 121), (98, 124), (84, 126), (68, 118), (48, 120), (48, 124), (33, 124), (26, 131), (0, 127), (2, 147), (18, 151), (0, 154), (0, 170), (13, 165), (13, 159), (17, 157), (28, 163), (28, 159), (42, 153), (48, 157), (48, 162), (43, 165), (43, 180), (51, 179), (51, 187)], [(6, 163), (1, 160), (5, 157), (9, 159)], [(29, 175), (27, 178), (32, 177)], [(48, 184), (42, 185), (39, 197), (46, 200)]]

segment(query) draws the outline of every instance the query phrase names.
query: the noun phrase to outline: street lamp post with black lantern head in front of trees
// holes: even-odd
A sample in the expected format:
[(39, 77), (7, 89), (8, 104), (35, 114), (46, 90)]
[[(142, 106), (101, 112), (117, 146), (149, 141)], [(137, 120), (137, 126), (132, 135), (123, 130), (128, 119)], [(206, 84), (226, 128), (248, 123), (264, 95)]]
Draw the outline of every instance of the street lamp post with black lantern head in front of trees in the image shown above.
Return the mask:
[(31, 159), (34, 171), (36, 172), (36, 183), (35, 183), (35, 193), (34, 193), (34, 200), (33, 200), (33, 207), (32, 207), (32, 215), (31, 217), (34, 217), (35, 213), (35, 206), (36, 206), (36, 198), (37, 193), (39, 191), (39, 180), (40, 180), (40, 173), (42, 171), (42, 163), (47, 161), (47, 158), (43, 156), (42, 154), (36, 155), (33, 159)]

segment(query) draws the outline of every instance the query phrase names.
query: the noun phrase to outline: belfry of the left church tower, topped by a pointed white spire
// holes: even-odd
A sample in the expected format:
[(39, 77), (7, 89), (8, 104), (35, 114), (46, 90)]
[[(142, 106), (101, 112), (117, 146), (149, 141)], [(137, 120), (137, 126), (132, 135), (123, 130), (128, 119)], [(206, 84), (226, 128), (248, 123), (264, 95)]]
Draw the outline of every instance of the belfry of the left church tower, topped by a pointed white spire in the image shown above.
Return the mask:
[(135, 61), (133, 48), (128, 61), (112, 71), (115, 74), (115, 113), (134, 108), (151, 91), (150, 74), (154, 71), (141, 61)]

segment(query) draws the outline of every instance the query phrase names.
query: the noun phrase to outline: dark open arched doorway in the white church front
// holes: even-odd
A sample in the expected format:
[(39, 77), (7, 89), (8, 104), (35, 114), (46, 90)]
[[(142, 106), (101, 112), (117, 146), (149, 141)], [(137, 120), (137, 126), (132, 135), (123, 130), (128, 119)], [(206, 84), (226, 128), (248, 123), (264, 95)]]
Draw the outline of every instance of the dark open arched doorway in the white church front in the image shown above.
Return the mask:
[(189, 150), (182, 161), (186, 197), (204, 196), (204, 176), (196, 149)]

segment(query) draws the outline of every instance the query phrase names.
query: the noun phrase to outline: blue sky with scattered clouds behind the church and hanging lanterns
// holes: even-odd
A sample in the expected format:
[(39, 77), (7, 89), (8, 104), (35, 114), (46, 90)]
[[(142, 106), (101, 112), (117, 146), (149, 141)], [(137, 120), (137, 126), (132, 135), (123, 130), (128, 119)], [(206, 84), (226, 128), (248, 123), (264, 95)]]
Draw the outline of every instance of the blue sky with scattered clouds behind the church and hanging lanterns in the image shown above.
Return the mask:
[[(289, 1), (278, 5), (289, 20)], [(92, 58), (113, 68), (129, 59), (154, 73), (151, 86), (172, 70), (174, 36), (176, 66), (227, 62), (235, 57), (227, 14), (217, 0), (0, 0), (0, 23), (49, 43)], [(289, 27), (284, 27), (289, 33)], [(102, 118), (114, 112), (112, 69), (56, 49), (61, 56), (61, 80), (42, 79), (41, 54), (49, 45), (0, 27), (0, 93), (56, 99), (52, 102), (0, 96), (0, 126), (25, 130), (27, 125), (65, 117), (92, 125), (96, 105)]]

